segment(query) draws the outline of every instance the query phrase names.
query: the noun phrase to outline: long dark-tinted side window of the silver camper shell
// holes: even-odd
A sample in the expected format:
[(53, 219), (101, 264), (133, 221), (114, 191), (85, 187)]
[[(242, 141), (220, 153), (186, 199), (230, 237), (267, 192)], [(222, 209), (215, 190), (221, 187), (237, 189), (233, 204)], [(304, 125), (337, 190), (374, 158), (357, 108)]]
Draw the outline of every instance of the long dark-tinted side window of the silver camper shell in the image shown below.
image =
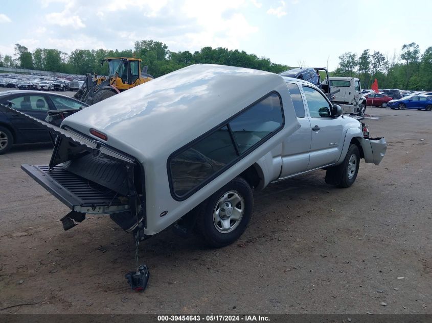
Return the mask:
[(183, 201), (228, 169), (284, 125), (279, 94), (226, 120), (224, 126), (192, 141), (168, 158), (171, 195)]

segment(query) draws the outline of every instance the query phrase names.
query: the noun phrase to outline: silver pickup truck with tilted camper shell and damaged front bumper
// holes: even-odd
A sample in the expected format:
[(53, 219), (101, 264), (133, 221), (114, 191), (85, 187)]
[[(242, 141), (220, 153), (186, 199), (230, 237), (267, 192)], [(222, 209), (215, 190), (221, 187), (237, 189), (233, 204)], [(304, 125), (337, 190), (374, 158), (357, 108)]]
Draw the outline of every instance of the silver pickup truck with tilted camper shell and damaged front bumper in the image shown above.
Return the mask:
[[(384, 138), (342, 115), (314, 85), (277, 74), (192, 65), (66, 117), (48, 165), (22, 165), (72, 211), (109, 214), (140, 239), (174, 224), (210, 245), (235, 241), (253, 190), (325, 168), (351, 186), (360, 159), (378, 165)], [(182, 229), (183, 228), (183, 229)]]

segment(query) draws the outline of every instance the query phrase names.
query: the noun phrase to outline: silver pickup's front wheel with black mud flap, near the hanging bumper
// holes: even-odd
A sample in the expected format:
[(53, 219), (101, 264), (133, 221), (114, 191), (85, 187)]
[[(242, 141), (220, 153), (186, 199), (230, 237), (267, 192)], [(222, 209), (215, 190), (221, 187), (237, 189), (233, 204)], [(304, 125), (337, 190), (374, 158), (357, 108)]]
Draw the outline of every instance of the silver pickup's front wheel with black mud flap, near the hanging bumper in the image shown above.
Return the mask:
[(351, 144), (342, 164), (327, 169), (326, 183), (337, 187), (350, 187), (357, 178), (359, 165), (360, 151), (355, 144)]

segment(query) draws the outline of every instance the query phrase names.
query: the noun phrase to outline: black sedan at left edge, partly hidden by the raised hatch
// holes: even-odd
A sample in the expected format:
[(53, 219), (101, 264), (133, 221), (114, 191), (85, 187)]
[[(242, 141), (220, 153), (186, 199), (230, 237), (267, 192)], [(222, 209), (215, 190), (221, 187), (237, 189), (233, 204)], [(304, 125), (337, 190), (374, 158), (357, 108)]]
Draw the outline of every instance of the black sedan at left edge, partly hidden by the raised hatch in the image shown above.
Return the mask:
[[(69, 96), (41, 91), (3, 91), (0, 104), (11, 106), (35, 118), (45, 120), (50, 110), (88, 107)], [(48, 142), (50, 135), (24, 116), (0, 106), (0, 155), (7, 153), (14, 143)]]

